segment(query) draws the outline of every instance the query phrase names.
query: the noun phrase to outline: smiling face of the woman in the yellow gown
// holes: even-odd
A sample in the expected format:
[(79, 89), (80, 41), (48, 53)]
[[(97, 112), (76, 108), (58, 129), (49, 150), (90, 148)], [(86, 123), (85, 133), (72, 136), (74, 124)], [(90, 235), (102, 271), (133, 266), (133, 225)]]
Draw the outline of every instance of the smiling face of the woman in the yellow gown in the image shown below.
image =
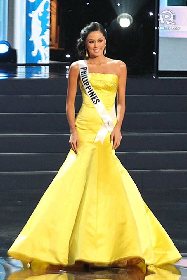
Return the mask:
[(103, 54), (106, 39), (101, 31), (92, 31), (86, 38), (86, 48), (90, 57), (97, 57)]

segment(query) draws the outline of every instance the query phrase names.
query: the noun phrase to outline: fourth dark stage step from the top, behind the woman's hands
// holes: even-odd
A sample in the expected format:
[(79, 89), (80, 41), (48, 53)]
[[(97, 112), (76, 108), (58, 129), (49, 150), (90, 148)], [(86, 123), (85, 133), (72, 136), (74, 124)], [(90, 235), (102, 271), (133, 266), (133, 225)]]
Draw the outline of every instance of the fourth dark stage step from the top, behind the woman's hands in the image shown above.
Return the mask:
[[(0, 153), (67, 152), (70, 133), (0, 134)], [(180, 143), (180, 145), (179, 145)], [(187, 151), (186, 133), (122, 133), (122, 151)]]

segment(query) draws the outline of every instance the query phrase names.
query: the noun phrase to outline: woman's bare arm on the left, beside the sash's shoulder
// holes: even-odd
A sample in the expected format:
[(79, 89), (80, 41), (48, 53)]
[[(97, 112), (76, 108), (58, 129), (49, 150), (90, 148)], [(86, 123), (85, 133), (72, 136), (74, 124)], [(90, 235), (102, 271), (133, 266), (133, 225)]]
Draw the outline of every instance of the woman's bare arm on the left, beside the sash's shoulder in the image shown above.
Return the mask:
[(69, 143), (72, 150), (77, 154), (79, 148), (79, 135), (75, 128), (75, 96), (79, 79), (79, 65), (77, 61), (73, 62), (69, 69), (67, 97), (66, 97), (66, 115), (70, 126)]

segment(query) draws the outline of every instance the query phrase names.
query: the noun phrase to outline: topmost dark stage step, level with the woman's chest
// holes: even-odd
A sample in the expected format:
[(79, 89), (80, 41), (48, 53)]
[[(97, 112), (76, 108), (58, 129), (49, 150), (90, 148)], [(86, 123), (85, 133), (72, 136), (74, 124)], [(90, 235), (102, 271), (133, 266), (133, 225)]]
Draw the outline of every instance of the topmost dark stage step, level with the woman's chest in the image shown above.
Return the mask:
[[(2, 79), (0, 86), (1, 95), (66, 94), (67, 78), (8, 78)], [(157, 79), (127, 77), (126, 93), (127, 95), (184, 95), (187, 93), (186, 77), (160, 77)]]

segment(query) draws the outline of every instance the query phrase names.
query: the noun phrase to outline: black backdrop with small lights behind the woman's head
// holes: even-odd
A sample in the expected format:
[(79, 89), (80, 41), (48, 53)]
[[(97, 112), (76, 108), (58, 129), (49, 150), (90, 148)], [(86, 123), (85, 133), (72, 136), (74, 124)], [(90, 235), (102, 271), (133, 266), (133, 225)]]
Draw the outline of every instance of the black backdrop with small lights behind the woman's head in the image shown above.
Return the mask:
[[(117, 3), (121, 6), (117, 6)], [(64, 48), (61, 61), (73, 62), (78, 59), (75, 50), (76, 39), (87, 23), (97, 21), (108, 32), (107, 57), (124, 61), (131, 72), (154, 71), (154, 0), (58, 0), (58, 6), (59, 43)], [(149, 12), (153, 12), (153, 15), (150, 16)], [(117, 23), (117, 16), (121, 13), (129, 13), (133, 17), (133, 23), (127, 28), (122, 28)], [(65, 57), (67, 53), (70, 54), (70, 58)]]

